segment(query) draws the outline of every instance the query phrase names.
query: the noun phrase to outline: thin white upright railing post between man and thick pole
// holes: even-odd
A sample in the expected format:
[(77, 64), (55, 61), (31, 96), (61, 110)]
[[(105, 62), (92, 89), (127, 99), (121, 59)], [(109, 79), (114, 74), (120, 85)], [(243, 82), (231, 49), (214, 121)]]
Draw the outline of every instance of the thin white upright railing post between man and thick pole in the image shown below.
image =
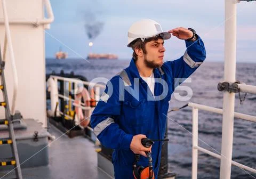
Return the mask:
[(192, 109), (192, 179), (197, 179), (197, 160), (198, 150), (195, 148), (198, 146), (198, 109)]

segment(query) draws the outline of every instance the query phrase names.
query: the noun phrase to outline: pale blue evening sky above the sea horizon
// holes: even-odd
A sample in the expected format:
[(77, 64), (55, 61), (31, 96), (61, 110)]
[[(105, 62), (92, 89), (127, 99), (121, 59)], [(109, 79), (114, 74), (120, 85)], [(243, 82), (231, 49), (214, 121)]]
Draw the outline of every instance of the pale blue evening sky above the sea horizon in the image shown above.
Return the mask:
[[(193, 28), (203, 39), (207, 61), (224, 60), (225, 0), (73, 0), (51, 1), (54, 22), (45, 32), (46, 58), (54, 58), (61, 46), (69, 58), (84, 58), (89, 52), (114, 53), (131, 59), (127, 31), (132, 23), (153, 19), (164, 31), (177, 27)], [(256, 62), (256, 1), (237, 4), (237, 61)], [(47, 15), (46, 15), (47, 16)], [(89, 39), (85, 25), (100, 22), (102, 29)], [(89, 47), (89, 42), (93, 46)], [(176, 37), (165, 41), (165, 59), (178, 59), (186, 51)]]

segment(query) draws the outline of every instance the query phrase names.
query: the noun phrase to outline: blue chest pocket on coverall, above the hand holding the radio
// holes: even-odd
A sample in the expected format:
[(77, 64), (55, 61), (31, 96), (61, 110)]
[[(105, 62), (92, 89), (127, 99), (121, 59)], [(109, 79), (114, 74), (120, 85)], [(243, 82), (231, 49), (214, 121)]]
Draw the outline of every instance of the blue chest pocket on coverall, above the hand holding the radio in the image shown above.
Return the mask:
[(143, 125), (145, 118), (145, 100), (128, 100), (123, 103), (123, 110), (125, 115), (125, 123), (127, 125)]

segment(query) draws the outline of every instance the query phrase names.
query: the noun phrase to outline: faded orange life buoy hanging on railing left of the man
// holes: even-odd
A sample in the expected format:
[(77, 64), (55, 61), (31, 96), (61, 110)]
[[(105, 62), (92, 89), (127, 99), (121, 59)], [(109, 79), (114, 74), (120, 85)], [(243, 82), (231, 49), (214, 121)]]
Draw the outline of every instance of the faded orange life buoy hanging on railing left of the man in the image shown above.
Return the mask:
[(87, 127), (90, 123), (89, 116), (90, 116), (91, 110), (85, 109), (84, 113), (83, 113), (83, 110), (82, 110), (82, 108), (79, 107), (79, 105), (81, 105), (81, 99), (83, 97), (85, 107), (90, 107), (90, 100), (91, 100), (90, 94), (86, 88), (83, 88), (82, 92), (76, 94), (75, 96), (76, 97), (75, 97), (74, 104), (76, 104), (75, 105), (76, 118), (78, 119), (78, 123), (81, 126)]

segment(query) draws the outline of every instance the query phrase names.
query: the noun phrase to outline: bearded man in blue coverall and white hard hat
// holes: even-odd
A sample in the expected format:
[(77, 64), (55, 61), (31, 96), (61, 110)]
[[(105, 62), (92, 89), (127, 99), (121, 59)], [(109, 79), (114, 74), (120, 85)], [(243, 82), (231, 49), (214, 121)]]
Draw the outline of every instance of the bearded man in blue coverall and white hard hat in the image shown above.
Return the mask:
[[(187, 50), (180, 59), (163, 63), (164, 40), (171, 34), (185, 40)], [(150, 150), (157, 178), (162, 142), (145, 148), (141, 139), (164, 138), (174, 81), (182, 78), (181, 83), (204, 61), (204, 43), (193, 29), (163, 32), (159, 23), (144, 19), (129, 29), (127, 46), (133, 49), (130, 66), (110, 79), (92, 113), (91, 126), (102, 145), (115, 149), (115, 178), (134, 178), (134, 154), (141, 154), (138, 165), (147, 167), (145, 152)]]

